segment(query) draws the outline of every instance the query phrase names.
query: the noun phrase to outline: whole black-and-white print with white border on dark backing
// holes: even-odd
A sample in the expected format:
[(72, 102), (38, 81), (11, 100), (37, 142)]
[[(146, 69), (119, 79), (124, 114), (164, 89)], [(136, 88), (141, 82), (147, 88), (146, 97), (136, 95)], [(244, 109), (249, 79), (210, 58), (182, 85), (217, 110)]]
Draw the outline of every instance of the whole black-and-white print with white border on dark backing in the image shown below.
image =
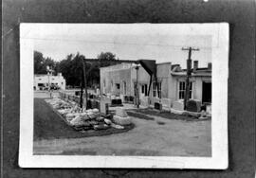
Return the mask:
[(229, 24), (20, 28), (21, 167), (227, 169)]

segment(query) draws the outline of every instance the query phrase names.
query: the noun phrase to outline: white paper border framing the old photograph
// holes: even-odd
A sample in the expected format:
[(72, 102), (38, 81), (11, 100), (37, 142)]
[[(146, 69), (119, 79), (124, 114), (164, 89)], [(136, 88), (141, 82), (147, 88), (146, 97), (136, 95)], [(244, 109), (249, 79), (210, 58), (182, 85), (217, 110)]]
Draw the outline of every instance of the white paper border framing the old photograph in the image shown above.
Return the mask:
[[(19, 166), (21, 168), (228, 169), (228, 23), (119, 25), (129, 28), (156, 26), (159, 30), (173, 30), (174, 35), (212, 36), (211, 157), (33, 155), (33, 40), (24, 37), (40, 35), (40, 29), (43, 27), (60, 25), (85, 27), (92, 24), (22, 23), (20, 25)], [(94, 24), (99, 27), (114, 25), (117, 24)]]

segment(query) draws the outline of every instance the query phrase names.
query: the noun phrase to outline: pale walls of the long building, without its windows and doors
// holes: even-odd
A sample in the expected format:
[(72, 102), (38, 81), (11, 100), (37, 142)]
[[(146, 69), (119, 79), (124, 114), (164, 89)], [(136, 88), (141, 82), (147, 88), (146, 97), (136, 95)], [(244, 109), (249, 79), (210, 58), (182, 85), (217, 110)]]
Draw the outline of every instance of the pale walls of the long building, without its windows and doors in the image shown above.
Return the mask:
[[(192, 98), (202, 100), (202, 83), (210, 81), (209, 74), (201, 76), (192, 76)], [(172, 63), (164, 62), (156, 64), (157, 81), (161, 82), (161, 98), (153, 95), (153, 83), (150, 88), (149, 98), (141, 93), (141, 86), (147, 84), (147, 91), (150, 86), (150, 75), (146, 70), (139, 66), (136, 70), (136, 65), (131, 63), (121, 63), (101, 68), (101, 92), (105, 94), (119, 94), (135, 97), (135, 83), (138, 81), (139, 98), (145, 103), (150, 100), (151, 105), (155, 102), (162, 102), (167, 108), (171, 108), (174, 101), (179, 100), (179, 81), (185, 81), (185, 72), (178, 72), (177, 75), (172, 74)], [(123, 82), (126, 82), (126, 92), (123, 92)], [(153, 82), (155, 79), (153, 79)], [(119, 89), (116, 84), (119, 83)], [(113, 84), (113, 86), (112, 86)]]

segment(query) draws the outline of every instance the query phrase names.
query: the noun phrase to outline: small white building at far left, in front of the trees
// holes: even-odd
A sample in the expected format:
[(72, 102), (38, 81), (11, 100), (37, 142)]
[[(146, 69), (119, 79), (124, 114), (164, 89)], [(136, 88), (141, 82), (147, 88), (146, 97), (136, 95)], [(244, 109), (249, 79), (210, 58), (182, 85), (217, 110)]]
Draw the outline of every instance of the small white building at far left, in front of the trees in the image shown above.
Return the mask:
[(58, 73), (57, 76), (46, 74), (34, 75), (34, 90), (44, 90), (48, 87), (48, 84), (59, 86), (61, 89), (65, 90), (65, 80), (62, 73)]

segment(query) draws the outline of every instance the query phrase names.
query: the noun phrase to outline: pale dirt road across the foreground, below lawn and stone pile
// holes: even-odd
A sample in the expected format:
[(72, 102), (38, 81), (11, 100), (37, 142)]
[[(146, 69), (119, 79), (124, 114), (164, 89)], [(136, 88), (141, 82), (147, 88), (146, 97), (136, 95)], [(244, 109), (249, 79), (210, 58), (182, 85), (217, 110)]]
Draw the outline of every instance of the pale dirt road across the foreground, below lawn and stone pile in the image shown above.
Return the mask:
[(154, 117), (155, 120), (132, 117), (136, 128), (122, 134), (37, 140), (34, 141), (34, 154), (211, 155), (210, 120)]

